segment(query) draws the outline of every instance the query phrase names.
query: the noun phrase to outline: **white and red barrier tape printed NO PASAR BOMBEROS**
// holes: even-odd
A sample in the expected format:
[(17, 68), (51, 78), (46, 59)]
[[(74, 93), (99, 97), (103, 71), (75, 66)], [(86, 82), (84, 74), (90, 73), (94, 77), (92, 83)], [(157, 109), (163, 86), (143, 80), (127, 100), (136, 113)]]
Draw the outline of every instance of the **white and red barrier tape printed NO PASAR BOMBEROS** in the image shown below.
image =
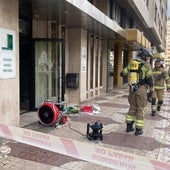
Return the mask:
[(0, 136), (116, 170), (170, 170), (170, 164), (122, 151), (0, 124)]

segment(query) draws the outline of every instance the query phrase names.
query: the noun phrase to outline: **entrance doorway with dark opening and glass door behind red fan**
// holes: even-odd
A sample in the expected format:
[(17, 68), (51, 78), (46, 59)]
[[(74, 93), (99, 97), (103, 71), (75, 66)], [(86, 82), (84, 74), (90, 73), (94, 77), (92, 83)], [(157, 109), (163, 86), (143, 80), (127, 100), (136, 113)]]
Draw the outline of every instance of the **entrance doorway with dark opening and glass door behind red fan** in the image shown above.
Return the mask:
[(63, 40), (20, 37), (20, 113), (36, 110), (44, 100), (64, 101)]

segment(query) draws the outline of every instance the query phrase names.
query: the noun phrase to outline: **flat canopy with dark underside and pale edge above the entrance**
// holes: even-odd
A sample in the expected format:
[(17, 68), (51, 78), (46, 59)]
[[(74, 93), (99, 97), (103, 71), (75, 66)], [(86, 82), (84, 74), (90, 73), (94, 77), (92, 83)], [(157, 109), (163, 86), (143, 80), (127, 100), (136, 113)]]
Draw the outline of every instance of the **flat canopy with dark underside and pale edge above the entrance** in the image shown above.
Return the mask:
[(125, 39), (126, 31), (88, 1), (34, 0), (29, 6), (24, 0), (23, 13), (27, 8), (35, 21), (52, 21), (65, 28), (82, 28), (103, 39)]

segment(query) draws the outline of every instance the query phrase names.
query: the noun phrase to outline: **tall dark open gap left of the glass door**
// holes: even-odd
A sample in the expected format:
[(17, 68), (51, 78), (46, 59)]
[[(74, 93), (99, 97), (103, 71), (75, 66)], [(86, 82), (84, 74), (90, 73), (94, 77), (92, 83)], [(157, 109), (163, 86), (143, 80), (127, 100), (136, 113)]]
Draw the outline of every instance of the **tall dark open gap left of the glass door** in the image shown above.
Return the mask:
[(19, 60), (20, 60), (20, 113), (31, 109), (31, 70), (32, 70), (32, 37), (31, 22), (20, 19)]

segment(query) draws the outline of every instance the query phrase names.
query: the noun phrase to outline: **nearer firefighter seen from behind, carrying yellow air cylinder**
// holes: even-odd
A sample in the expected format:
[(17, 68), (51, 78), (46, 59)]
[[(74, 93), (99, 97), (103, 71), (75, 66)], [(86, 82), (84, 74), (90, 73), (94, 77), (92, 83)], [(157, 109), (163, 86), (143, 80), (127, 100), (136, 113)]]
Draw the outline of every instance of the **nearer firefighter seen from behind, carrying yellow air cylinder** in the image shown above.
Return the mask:
[[(141, 135), (144, 127), (144, 113), (147, 105), (147, 89), (153, 91), (151, 65), (147, 62), (150, 52), (141, 48), (136, 56), (120, 73), (129, 77), (129, 111), (126, 115), (126, 132), (135, 130), (135, 135)], [(133, 124), (135, 123), (135, 129)]]

